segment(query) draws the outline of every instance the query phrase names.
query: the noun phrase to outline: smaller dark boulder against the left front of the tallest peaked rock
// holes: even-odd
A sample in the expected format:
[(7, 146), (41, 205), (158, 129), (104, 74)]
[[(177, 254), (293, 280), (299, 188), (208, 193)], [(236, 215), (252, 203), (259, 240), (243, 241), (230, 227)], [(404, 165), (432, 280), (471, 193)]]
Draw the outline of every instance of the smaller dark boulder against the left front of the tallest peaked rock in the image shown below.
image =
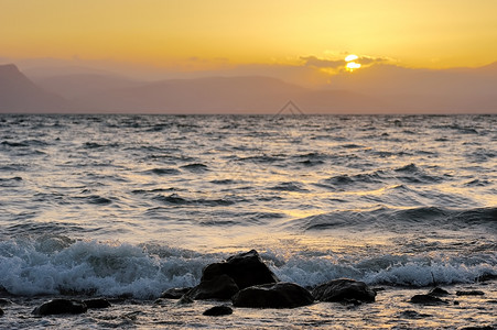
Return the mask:
[(196, 299), (229, 299), (239, 292), (235, 280), (226, 274), (204, 279), (185, 296)]

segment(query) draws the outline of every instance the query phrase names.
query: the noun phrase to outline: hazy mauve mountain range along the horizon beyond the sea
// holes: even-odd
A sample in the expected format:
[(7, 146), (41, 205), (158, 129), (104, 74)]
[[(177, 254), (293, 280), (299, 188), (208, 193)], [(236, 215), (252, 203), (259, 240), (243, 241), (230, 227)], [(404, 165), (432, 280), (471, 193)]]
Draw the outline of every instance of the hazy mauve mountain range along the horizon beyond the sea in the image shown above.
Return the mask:
[(289, 100), (305, 113), (497, 113), (497, 63), (469, 69), (375, 65), (306, 88), (266, 76), (140, 81), (106, 73), (37, 76), (0, 65), (0, 112), (275, 113)]

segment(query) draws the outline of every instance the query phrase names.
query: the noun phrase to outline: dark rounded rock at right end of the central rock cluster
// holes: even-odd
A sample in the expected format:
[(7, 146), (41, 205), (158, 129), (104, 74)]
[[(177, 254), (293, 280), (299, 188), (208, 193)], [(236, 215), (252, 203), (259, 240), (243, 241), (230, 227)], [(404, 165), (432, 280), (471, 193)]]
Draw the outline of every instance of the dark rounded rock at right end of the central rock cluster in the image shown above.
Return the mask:
[(314, 299), (321, 301), (347, 301), (358, 300), (374, 302), (376, 293), (364, 282), (348, 278), (333, 279), (318, 285), (312, 290)]

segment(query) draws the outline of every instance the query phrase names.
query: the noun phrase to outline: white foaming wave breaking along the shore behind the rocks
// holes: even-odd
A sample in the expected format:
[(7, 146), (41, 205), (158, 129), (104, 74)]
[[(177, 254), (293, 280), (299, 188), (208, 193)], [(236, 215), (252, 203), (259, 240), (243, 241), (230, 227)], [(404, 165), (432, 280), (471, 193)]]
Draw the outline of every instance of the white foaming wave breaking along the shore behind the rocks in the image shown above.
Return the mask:
[[(168, 288), (194, 286), (223, 253), (197, 253), (159, 244), (76, 241), (63, 235), (0, 241), (0, 288), (33, 296), (62, 293), (150, 299)], [(475, 283), (497, 275), (497, 254), (447, 257), (377, 254), (344, 258), (333, 253), (287, 256), (267, 250), (261, 257), (282, 280), (315, 286), (348, 277), (369, 285), (429, 286)]]

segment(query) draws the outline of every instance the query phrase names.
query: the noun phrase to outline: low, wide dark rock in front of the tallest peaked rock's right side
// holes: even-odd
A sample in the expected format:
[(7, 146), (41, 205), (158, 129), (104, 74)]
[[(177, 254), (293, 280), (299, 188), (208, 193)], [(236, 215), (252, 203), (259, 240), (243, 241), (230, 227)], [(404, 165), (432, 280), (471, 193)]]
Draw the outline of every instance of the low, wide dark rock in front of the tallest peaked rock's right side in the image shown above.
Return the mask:
[(305, 288), (294, 283), (256, 285), (240, 290), (233, 297), (233, 306), (251, 308), (294, 308), (314, 302)]

